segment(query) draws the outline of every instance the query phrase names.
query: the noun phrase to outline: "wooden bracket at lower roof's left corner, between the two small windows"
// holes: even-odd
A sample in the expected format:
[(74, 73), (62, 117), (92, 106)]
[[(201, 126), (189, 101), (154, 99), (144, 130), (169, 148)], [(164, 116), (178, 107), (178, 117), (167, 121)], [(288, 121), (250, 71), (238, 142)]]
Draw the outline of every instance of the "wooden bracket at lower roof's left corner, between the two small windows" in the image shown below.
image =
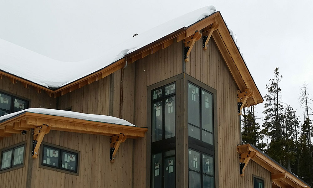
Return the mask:
[(38, 149), (42, 140), (44, 139), (44, 135), (48, 134), (50, 131), (49, 125), (43, 124), (40, 127), (33, 129), (33, 149), (32, 149), (32, 156), (33, 158), (37, 158), (38, 156)]

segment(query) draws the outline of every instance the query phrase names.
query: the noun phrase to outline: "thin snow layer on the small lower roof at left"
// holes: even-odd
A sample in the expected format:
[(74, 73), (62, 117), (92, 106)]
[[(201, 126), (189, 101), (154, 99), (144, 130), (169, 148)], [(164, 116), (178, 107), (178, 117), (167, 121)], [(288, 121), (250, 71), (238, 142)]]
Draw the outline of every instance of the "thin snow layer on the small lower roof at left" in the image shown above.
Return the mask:
[(22, 114), (24, 112), (32, 112), (32, 113), (46, 114), (46, 115), (52, 115), (52, 116), (61, 116), (61, 117), (66, 117), (66, 118), (83, 119), (83, 120), (102, 122), (102, 123), (112, 123), (112, 124), (117, 124), (117, 125), (135, 126), (124, 119), (115, 118), (112, 116), (86, 114), (86, 113), (80, 113), (80, 112), (71, 112), (67, 110), (55, 110), (55, 109), (47, 109), (47, 108), (28, 108), (19, 112), (10, 113), (10, 114), (1, 116), (0, 122), (3, 122), (9, 118)]

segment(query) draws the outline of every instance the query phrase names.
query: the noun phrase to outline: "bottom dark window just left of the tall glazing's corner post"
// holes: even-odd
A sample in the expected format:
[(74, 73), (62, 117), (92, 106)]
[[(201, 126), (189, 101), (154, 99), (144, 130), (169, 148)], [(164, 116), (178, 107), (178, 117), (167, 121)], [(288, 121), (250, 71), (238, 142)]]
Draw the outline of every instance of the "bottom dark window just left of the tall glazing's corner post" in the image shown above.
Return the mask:
[(175, 149), (152, 154), (152, 188), (175, 187)]

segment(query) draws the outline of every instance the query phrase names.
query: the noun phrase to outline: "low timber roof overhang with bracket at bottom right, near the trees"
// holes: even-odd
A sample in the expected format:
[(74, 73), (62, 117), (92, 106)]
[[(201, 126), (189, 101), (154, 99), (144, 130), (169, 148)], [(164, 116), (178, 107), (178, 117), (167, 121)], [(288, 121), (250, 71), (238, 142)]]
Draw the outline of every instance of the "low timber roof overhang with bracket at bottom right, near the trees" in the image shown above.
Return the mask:
[[(245, 162), (244, 166), (247, 165), (249, 160), (253, 160), (257, 164), (261, 165), (272, 174), (272, 185), (273, 188), (280, 187), (294, 187), (304, 188), (311, 187), (306, 184), (303, 180), (297, 177), (295, 174), (287, 170), (285, 167), (277, 163), (274, 159), (270, 158), (262, 151), (257, 149), (251, 144), (244, 144), (237, 146), (237, 152), (239, 153), (240, 162)], [(242, 164), (240, 164), (242, 166)]]

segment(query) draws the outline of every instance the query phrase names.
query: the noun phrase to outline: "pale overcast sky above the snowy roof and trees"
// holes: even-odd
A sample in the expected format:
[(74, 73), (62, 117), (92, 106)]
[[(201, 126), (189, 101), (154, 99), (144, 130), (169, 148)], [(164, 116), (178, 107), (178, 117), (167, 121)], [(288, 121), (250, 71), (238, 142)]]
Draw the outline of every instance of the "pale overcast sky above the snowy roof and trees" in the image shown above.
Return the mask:
[[(297, 109), (303, 120), (300, 86), (306, 82), (313, 94), (313, 3), (309, 0), (0, 0), (0, 38), (56, 60), (85, 60), (116, 41), (208, 5), (221, 12), (236, 35), (261, 94), (266, 94), (265, 84), (278, 66), (283, 76), (282, 101)], [(263, 105), (257, 105), (256, 111), (262, 116)]]

